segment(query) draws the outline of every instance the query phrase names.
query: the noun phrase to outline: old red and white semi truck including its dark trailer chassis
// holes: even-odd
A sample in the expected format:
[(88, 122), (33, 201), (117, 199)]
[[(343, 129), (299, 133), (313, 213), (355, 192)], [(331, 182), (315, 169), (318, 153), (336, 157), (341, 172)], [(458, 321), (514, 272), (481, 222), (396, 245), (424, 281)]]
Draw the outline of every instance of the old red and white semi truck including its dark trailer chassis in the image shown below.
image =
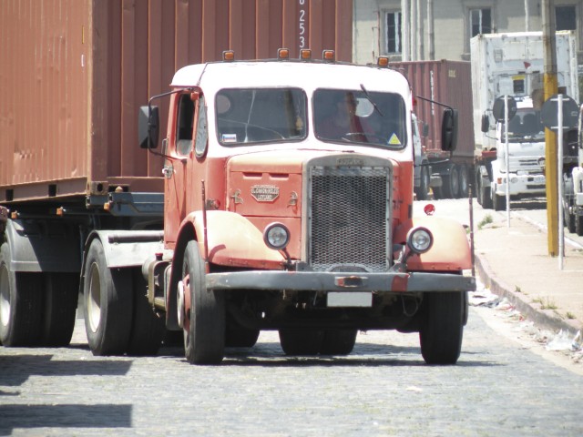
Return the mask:
[[(70, 319), (80, 289), (96, 355), (155, 353), (167, 330), (194, 364), (261, 330), (288, 355), (335, 355), (358, 330), (400, 330), (419, 332), (424, 361), (455, 363), (476, 282), (465, 229), (413, 217), (411, 86), (312, 53), (180, 68), (140, 108), (148, 150), (132, 155), (163, 193), (122, 178), (87, 178), (83, 196), (60, 179), (40, 184), (53, 196), (4, 186), (4, 345), (66, 343), (59, 311), (66, 299)], [(454, 149), (453, 111), (442, 124)]]

